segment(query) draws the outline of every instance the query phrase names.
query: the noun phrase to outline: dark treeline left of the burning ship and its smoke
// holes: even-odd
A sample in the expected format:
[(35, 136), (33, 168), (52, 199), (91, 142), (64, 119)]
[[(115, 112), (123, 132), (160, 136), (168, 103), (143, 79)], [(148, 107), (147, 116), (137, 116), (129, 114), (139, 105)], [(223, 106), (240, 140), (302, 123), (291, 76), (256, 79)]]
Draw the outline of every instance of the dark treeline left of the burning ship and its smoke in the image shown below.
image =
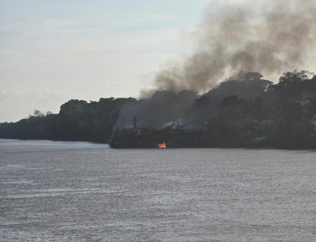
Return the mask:
[(70, 100), (59, 114), (41, 112), (16, 123), (0, 123), (0, 137), (8, 139), (81, 140), (107, 142), (119, 110), (134, 98), (100, 98), (99, 102)]

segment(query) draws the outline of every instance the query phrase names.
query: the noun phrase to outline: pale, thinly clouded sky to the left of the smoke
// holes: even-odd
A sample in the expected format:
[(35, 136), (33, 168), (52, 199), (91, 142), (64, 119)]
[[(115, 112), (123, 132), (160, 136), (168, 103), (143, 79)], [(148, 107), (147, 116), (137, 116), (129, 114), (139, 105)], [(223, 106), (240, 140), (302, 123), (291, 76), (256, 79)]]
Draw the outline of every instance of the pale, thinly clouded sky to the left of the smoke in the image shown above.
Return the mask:
[(191, 50), (208, 0), (0, 0), (0, 122), (137, 97)]

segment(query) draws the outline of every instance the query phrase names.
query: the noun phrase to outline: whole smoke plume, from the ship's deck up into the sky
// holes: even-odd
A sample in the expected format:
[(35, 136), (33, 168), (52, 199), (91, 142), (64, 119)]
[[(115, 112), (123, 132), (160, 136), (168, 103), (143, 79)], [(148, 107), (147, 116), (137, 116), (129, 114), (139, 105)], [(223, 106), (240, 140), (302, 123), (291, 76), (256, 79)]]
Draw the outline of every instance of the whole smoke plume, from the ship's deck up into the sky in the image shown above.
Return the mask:
[[(246, 72), (280, 76), (300, 68), (306, 51), (316, 45), (316, 1), (212, 1), (194, 35), (196, 52), (181, 64), (159, 71), (155, 88), (141, 91), (149, 99), (125, 106), (116, 127), (131, 126), (134, 115), (139, 117), (140, 127), (161, 127), (185, 116), (191, 123), (201, 124), (214, 113), (221, 98), (195, 100), (194, 92), (208, 91), (230, 77), (246, 80)], [(219, 90), (206, 96), (221, 94)], [(185, 113), (187, 110), (192, 114)]]

